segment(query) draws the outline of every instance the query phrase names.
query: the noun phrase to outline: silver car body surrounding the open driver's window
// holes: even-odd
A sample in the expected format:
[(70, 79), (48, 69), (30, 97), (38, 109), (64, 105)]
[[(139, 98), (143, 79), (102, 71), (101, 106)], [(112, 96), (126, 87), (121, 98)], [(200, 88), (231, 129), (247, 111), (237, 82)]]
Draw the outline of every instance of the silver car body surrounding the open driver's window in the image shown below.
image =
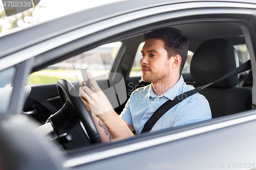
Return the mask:
[[(24, 87), (31, 72), (111, 42), (120, 41), (122, 45), (110, 71), (122, 74), (126, 88), (135, 89), (140, 77), (129, 75), (137, 48), (143, 42), (142, 34), (163, 27), (181, 30), (190, 41), (191, 52), (195, 52), (202, 42), (215, 38), (229, 39), (234, 45), (246, 44), (252, 78), (256, 80), (255, 19), (256, 3), (252, 0), (124, 1), (80, 11), (1, 36), (0, 79), (3, 87), (11, 86), (11, 89), (8, 92), (4, 88), (0, 97), (3, 104), (2, 136), (6, 138), (2, 139), (4, 144), (0, 163), (7, 162), (9, 165), (12, 162), (12, 157), (7, 156), (9, 153), (17, 162), (12, 169), (255, 168), (254, 84), (250, 87), (250, 110), (69, 150), (34, 134), (33, 128), (38, 125), (24, 118), (27, 115), (21, 115), (22, 111), (28, 112), (26, 107), (34, 105), (37, 111), (34, 117), (45, 123), (61, 107), (56, 83), (32, 86), (26, 101), (28, 92)], [(186, 82), (193, 82), (189, 73), (183, 77)], [(51, 104), (50, 99), (54, 101)], [(116, 108), (116, 111), (120, 113), (122, 107)], [(19, 131), (16, 132), (16, 129)], [(9, 150), (10, 145), (16, 150)], [(23, 148), (20, 150), (22, 152), (17, 152), (20, 148)]]

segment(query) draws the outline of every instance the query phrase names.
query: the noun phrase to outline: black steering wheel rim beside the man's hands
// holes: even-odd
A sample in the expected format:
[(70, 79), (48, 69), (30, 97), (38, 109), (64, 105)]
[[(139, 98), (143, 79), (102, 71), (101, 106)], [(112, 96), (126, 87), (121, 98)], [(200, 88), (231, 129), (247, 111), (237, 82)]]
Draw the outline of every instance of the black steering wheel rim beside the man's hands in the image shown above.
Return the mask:
[[(84, 128), (87, 131), (91, 143), (100, 143), (101, 138), (99, 132), (94, 125), (92, 117), (90, 116), (86, 106), (83, 104), (75, 87), (66, 79), (59, 79), (57, 82), (57, 90), (59, 93), (62, 105), (66, 103), (66, 107), (73, 107), (67, 109), (75, 109), (80, 118)], [(69, 103), (69, 104), (67, 104)]]

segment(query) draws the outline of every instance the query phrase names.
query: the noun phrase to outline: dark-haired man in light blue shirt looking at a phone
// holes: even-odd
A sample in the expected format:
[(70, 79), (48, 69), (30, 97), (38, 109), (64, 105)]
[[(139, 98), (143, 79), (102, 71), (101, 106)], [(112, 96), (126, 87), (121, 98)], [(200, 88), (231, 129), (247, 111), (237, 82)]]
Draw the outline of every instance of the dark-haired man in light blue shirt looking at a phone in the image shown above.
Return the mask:
[[(103, 141), (108, 141), (109, 138), (106, 137), (110, 136), (112, 139), (133, 136), (133, 130), (136, 134), (140, 134), (147, 120), (162, 104), (194, 89), (193, 86), (186, 85), (181, 75), (187, 58), (188, 40), (179, 30), (174, 28), (155, 30), (144, 34), (144, 40), (140, 60), (142, 80), (151, 84), (133, 91), (120, 116), (113, 110), (90, 73), (88, 77), (92, 80), (94, 91), (84, 86), (82, 82), (80, 84), (83, 86), (79, 90), (83, 103), (103, 122), (93, 116)], [(168, 110), (154, 125), (152, 131), (210, 118), (208, 101), (203, 95), (196, 93)]]

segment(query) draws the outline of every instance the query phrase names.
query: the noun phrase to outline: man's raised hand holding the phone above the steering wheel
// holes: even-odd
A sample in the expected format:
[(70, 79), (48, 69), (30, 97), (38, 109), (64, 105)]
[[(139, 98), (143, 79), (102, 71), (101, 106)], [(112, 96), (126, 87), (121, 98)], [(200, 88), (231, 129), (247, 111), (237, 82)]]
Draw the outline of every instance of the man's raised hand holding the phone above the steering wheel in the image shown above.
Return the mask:
[(87, 72), (87, 77), (93, 85), (93, 89), (91, 90), (88, 88), (86, 86), (86, 82), (82, 81), (79, 83), (81, 86), (79, 88), (79, 96), (82, 98), (82, 101), (84, 105), (86, 105), (88, 111), (99, 117), (99, 114), (113, 110), (108, 98), (106, 98), (90, 72)]

